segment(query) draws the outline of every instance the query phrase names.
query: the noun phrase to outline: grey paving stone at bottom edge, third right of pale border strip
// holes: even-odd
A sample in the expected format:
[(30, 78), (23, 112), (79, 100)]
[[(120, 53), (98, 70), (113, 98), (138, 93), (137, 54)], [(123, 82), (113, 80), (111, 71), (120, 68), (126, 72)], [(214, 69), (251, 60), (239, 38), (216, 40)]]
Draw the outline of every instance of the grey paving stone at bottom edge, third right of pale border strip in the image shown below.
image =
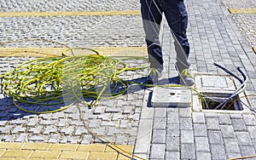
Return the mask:
[(181, 145), (181, 159), (195, 159), (195, 144)]

